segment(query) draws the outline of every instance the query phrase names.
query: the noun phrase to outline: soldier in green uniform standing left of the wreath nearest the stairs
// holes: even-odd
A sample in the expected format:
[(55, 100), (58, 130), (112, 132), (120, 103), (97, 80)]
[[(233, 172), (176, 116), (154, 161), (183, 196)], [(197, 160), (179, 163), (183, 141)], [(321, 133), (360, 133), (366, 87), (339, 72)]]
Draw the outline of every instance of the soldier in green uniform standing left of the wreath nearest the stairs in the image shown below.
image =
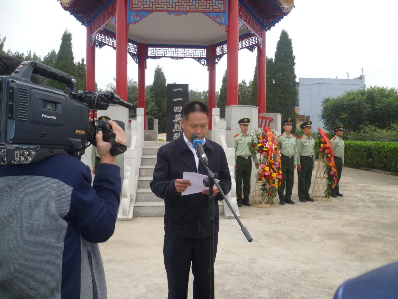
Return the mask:
[[(235, 179), (236, 179), (236, 201), (238, 207), (242, 204), (250, 207), (250, 177), (252, 175), (252, 159), (258, 168), (258, 160), (256, 155), (252, 155), (248, 143), (254, 142), (253, 136), (248, 134), (250, 119), (242, 118), (238, 121), (240, 133), (234, 136), (235, 149)], [(243, 179), (243, 198), (242, 198), (242, 179)]]

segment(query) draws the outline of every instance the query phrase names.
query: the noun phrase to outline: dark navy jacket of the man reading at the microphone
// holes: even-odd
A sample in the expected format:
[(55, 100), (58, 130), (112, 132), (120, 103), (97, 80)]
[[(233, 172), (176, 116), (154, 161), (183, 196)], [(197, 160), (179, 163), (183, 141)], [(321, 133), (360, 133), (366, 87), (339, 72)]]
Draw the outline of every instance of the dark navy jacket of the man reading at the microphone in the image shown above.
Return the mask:
[[(218, 174), (219, 185), (226, 195), (231, 190), (231, 176), (224, 150), (209, 139), (203, 145), (209, 168)], [(153, 180), (150, 182), (152, 192), (164, 199), (164, 232), (167, 236), (183, 238), (203, 238), (209, 231), (209, 196), (203, 193), (181, 196), (177, 193), (174, 182), (182, 179), (183, 172), (199, 172), (207, 175), (202, 162), (199, 171), (196, 169), (195, 157), (184, 141), (183, 135), (158, 151)], [(203, 188), (205, 189), (205, 187)], [(221, 194), (216, 199), (222, 200)], [(214, 233), (219, 231), (219, 207), (216, 201)]]

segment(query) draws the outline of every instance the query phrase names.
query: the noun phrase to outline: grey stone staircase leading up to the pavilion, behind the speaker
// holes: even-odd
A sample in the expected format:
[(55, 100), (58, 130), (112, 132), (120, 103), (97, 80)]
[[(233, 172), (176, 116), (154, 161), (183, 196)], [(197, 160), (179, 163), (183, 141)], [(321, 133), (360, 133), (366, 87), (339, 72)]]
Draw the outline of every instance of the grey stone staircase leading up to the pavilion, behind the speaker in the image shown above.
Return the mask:
[[(158, 149), (168, 142), (145, 141), (142, 149), (140, 173), (134, 203), (134, 216), (164, 216), (164, 201), (156, 197), (149, 183), (152, 181)], [(219, 201), (220, 214), (224, 214), (224, 204)]]

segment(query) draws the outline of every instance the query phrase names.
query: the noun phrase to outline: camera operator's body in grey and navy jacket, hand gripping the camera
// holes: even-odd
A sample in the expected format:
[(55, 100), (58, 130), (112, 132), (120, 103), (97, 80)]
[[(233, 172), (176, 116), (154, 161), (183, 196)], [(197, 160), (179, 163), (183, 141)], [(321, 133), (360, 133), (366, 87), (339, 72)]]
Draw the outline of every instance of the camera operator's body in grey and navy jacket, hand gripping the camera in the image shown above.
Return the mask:
[(101, 131), (96, 140), (93, 187), (90, 168), (71, 155), (0, 166), (0, 298), (107, 297), (97, 243), (115, 230), (121, 177)]

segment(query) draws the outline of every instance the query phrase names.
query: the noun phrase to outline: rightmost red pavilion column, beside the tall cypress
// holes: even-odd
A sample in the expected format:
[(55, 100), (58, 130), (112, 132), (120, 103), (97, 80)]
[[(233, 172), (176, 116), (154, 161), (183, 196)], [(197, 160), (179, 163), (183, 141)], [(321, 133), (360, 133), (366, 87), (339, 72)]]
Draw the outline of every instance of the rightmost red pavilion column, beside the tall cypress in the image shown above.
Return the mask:
[(266, 111), (266, 65), (265, 57), (265, 30), (263, 30), (263, 49), (257, 46), (257, 106), (258, 113), (265, 113)]

